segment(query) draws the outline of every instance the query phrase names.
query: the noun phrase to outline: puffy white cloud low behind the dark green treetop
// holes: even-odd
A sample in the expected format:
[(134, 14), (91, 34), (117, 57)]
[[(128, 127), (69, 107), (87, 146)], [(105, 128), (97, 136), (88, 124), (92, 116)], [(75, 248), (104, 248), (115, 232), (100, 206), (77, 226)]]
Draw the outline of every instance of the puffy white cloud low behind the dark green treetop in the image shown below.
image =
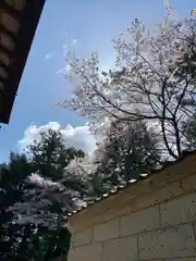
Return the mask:
[(26, 149), (26, 147), (34, 140), (39, 139), (40, 133), (44, 130), (48, 130), (49, 128), (60, 130), (62, 133), (66, 148), (74, 147), (76, 149), (82, 149), (89, 156), (91, 156), (94, 150), (96, 149), (96, 139), (90, 134), (87, 125), (76, 127), (68, 125), (66, 127), (62, 127), (57, 122), (49, 122), (48, 124), (42, 126), (28, 126), (24, 132), (23, 138), (19, 140), (20, 151)]

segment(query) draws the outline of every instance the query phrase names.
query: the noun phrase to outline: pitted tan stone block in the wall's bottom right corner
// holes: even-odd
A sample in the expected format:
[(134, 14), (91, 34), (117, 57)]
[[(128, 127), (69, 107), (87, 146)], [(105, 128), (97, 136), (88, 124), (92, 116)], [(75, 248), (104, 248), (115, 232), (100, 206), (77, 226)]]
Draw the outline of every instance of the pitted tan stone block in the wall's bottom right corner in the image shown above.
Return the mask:
[(139, 260), (193, 257), (196, 243), (192, 224), (146, 232), (138, 238)]

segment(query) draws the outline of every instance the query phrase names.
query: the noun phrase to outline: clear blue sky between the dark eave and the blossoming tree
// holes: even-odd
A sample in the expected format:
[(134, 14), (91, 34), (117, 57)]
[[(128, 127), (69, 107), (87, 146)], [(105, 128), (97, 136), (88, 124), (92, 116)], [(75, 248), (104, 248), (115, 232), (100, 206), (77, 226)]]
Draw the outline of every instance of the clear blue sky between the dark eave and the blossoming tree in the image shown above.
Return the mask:
[[(195, 0), (170, 0), (177, 16), (189, 15)], [(98, 51), (101, 63), (112, 64), (111, 38), (125, 30), (139, 17), (145, 23), (160, 21), (164, 10), (162, 0), (46, 0), (39, 26), (20, 84), (9, 125), (0, 129), (0, 161), (10, 150), (17, 149), (17, 140), (30, 125), (58, 122), (62, 126), (83, 125), (70, 111), (54, 103), (66, 96), (65, 80), (57, 71), (65, 66), (62, 46), (72, 45), (81, 55)]]

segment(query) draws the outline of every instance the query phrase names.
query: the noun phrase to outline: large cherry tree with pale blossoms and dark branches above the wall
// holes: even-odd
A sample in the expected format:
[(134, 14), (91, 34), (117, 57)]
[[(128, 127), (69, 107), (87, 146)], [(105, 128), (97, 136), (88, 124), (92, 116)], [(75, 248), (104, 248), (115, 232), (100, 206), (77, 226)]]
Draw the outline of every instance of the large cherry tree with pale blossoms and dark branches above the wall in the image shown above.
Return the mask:
[(106, 120), (145, 120), (177, 159), (188, 141), (183, 126), (195, 120), (195, 17), (176, 23), (167, 17), (151, 30), (136, 18), (113, 40), (117, 66), (109, 72), (102, 72), (96, 53), (88, 59), (68, 53), (72, 95), (59, 104), (87, 117), (94, 130)]

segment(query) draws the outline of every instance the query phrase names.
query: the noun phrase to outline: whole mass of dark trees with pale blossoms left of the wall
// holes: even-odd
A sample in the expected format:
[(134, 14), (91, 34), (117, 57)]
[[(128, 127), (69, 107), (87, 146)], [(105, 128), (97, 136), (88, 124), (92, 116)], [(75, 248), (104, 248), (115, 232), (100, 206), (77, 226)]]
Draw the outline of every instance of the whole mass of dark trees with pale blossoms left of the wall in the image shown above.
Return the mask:
[[(0, 166), (0, 260), (45, 261), (68, 254), (71, 235), (63, 216), (84, 184), (64, 176), (64, 167), (83, 157), (50, 129), (29, 146), (28, 158), (11, 153)], [(33, 173), (41, 179), (30, 179)]]

